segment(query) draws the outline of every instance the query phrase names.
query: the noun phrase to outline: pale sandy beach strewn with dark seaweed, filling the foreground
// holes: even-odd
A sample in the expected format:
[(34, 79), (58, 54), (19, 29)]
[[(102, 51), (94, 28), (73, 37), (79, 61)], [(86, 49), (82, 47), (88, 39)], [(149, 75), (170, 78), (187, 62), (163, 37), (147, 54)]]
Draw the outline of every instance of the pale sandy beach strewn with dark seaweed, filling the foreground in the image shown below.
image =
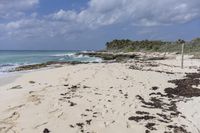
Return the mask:
[(0, 133), (199, 133), (198, 93), (177, 96), (169, 81), (191, 81), (200, 61), (185, 56), (181, 69), (179, 57), (20, 74), (0, 85)]

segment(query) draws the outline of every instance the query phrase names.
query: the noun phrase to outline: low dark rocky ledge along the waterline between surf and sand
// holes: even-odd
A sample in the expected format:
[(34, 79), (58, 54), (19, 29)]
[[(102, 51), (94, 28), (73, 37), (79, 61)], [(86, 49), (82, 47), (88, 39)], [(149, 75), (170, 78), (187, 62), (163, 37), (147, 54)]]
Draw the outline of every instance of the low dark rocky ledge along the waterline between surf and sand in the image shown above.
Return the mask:
[[(101, 58), (103, 62), (126, 62), (128, 60), (134, 59), (134, 60), (165, 60), (166, 57), (162, 55), (152, 56), (149, 54), (149, 56), (146, 55), (140, 55), (141, 53), (111, 53), (111, 52), (87, 52), (87, 53), (77, 53), (77, 55), (84, 55), (84, 56), (90, 56), (90, 57), (97, 57)], [(89, 62), (80, 62), (80, 61), (71, 61), (71, 62), (59, 62), (59, 61), (49, 61), (45, 63), (39, 63), (39, 64), (33, 64), (33, 65), (24, 65), (16, 67), (13, 70), (10, 70), (9, 72), (16, 72), (16, 71), (28, 71), (28, 70), (34, 70), (34, 69), (41, 69), (46, 68), (50, 66), (55, 67), (61, 67), (63, 65), (77, 65), (77, 64), (87, 64)], [(92, 63), (98, 63), (98, 62), (92, 62)]]

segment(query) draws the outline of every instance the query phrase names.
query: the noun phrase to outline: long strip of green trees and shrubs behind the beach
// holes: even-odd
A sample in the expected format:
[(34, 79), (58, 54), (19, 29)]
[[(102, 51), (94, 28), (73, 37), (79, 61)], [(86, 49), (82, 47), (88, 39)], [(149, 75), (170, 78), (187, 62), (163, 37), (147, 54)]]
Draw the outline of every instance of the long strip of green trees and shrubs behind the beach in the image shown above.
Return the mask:
[[(106, 50), (113, 52), (138, 52), (138, 51), (148, 51), (148, 52), (180, 52), (181, 44), (183, 40), (178, 40), (176, 42), (166, 42), (166, 41), (132, 41), (128, 39), (113, 40), (106, 43)], [(185, 52), (186, 53), (196, 53), (200, 52), (200, 38), (196, 38), (192, 41), (185, 42)]]

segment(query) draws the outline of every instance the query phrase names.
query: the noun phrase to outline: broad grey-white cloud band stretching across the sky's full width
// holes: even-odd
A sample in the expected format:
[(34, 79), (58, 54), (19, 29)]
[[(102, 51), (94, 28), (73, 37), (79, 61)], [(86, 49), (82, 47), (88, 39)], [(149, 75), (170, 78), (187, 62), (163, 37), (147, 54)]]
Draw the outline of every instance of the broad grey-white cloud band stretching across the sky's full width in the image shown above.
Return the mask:
[(130, 29), (175, 25), (200, 18), (199, 0), (90, 0), (80, 11), (60, 9), (45, 16), (30, 13), (27, 17), (26, 11), (37, 4), (39, 0), (0, 0), (0, 18), (15, 16), (15, 20), (0, 24), (1, 37), (68, 39), (84, 30), (117, 24), (131, 25)]

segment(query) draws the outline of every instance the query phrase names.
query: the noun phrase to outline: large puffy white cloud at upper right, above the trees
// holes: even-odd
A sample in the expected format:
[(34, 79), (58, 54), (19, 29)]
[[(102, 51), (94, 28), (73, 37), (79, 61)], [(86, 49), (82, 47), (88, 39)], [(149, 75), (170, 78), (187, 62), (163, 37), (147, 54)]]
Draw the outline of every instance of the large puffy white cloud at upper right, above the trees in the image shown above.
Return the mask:
[(185, 23), (200, 16), (199, 0), (90, 0), (80, 12), (64, 11), (53, 19), (71, 20), (91, 28), (120, 22), (155, 26)]

